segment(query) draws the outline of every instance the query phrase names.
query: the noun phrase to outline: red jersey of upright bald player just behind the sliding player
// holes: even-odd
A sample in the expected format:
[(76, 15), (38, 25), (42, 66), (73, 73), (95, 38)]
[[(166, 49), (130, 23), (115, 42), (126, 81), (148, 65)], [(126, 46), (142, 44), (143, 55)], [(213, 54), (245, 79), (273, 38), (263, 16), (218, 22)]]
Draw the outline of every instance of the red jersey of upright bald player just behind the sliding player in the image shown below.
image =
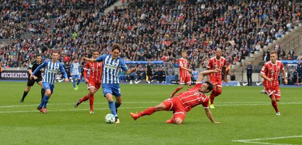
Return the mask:
[[(220, 57), (220, 60), (216, 59), (216, 56), (210, 58), (210, 60), (208, 61), (208, 65), (207, 67), (212, 70), (212, 69), (216, 69), (219, 68), (220, 70), (222, 70), (223, 67), (227, 66), (227, 61), (224, 57)], [(215, 77), (218, 79), (222, 78), (222, 72), (219, 73), (211, 73), (209, 74), (210, 77)]]

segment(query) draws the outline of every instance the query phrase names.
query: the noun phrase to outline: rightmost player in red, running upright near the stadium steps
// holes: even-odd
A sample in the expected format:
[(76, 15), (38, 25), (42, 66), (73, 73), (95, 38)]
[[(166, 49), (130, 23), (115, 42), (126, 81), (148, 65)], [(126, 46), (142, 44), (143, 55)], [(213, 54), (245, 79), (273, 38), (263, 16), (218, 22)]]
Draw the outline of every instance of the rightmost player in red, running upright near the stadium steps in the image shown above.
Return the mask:
[(277, 61), (277, 52), (271, 51), (270, 61), (265, 63), (261, 69), (261, 77), (264, 79), (263, 85), (264, 85), (265, 94), (267, 94), (270, 97), (272, 101), (272, 106), (276, 111), (276, 115), (280, 115), (280, 111), (277, 106), (277, 102), (279, 102), (281, 98), (281, 92), (278, 82), (280, 70), (282, 70), (284, 83), (287, 84), (284, 65), (281, 61)]

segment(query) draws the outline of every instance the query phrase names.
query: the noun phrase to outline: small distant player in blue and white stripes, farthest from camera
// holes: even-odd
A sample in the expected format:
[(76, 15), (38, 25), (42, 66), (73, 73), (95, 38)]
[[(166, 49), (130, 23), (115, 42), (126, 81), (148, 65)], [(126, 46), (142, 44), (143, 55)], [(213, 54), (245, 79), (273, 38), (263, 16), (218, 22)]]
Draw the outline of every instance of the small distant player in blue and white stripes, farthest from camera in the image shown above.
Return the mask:
[(81, 82), (81, 71), (77, 58), (74, 58), (74, 62), (70, 65), (70, 76), (73, 79), (74, 89), (78, 90), (77, 85)]

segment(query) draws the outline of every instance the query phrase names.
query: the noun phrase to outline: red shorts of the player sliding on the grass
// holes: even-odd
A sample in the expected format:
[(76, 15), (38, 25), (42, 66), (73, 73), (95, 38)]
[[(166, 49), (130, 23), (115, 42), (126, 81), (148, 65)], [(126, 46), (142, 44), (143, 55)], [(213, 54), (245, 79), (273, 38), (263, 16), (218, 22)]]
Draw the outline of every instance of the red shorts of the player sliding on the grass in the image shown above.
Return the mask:
[(173, 111), (174, 118), (185, 120), (187, 110), (178, 100), (175, 99), (175, 97), (166, 99), (163, 103), (165, 104), (167, 111)]

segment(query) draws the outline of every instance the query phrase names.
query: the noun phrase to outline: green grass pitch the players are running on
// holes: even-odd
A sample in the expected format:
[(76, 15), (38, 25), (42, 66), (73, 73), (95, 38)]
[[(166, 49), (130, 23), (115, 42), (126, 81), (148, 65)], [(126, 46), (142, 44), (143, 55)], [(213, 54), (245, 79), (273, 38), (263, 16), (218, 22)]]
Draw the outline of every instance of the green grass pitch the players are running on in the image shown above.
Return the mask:
[[(35, 84), (19, 103), (26, 82), (0, 82), (0, 144), (8, 145), (302, 145), (302, 88), (281, 88), (277, 116), (262, 87), (224, 86), (215, 98), (212, 124), (201, 106), (193, 108), (184, 124), (166, 124), (171, 112), (156, 112), (134, 121), (139, 112), (164, 101), (177, 85), (121, 84), (120, 124), (106, 124), (108, 103), (99, 90), (94, 114), (89, 101), (74, 103), (87, 94), (84, 83), (56, 83), (47, 113), (39, 113), (40, 87)], [(185, 89), (181, 90), (184, 91)], [(272, 138), (272, 139), (270, 139)], [(240, 141), (238, 141), (240, 140)], [(252, 140), (252, 141), (248, 141)], [(237, 142), (234, 142), (237, 141)]]

